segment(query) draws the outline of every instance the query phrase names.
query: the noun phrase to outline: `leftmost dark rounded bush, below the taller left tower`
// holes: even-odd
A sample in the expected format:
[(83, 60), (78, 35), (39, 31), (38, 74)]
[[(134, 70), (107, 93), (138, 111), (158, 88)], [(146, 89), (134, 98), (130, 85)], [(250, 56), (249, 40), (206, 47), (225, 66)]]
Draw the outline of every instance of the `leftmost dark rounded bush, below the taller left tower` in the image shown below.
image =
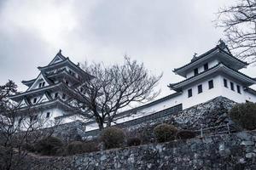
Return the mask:
[(41, 139), (35, 144), (35, 150), (47, 156), (54, 156), (56, 151), (62, 147), (63, 143), (61, 139), (55, 137), (47, 137), (45, 139)]

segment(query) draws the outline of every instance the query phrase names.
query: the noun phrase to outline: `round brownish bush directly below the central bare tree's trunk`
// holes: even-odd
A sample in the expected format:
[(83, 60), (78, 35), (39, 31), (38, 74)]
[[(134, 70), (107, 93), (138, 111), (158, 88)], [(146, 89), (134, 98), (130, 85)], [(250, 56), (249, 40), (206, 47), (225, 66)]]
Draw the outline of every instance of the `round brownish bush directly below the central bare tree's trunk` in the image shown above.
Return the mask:
[(124, 144), (125, 133), (117, 127), (107, 127), (102, 131), (100, 139), (106, 149), (118, 148)]

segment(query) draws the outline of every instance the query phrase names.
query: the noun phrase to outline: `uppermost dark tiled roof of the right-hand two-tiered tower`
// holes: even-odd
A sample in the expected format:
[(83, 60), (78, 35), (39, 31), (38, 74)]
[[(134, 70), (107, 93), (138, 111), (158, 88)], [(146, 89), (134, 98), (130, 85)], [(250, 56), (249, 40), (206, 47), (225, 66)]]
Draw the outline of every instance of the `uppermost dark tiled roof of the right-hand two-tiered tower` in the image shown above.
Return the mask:
[[(242, 61), (241, 59), (237, 59), (235, 56), (233, 56), (232, 54), (230, 54), (230, 53), (224, 51), (223, 48), (221, 48), (221, 47), (219, 47), (219, 45), (217, 45), (215, 48), (212, 48), (212, 49), (210, 49), (209, 51), (207, 51), (206, 53), (201, 54), (200, 56), (196, 57), (195, 59), (192, 59), (191, 62), (189, 62), (189, 64), (183, 65), (183, 66), (181, 66), (181, 67), (179, 67), (179, 68), (177, 68), (177, 69), (174, 69), (174, 72), (175, 72), (175, 71), (178, 71), (178, 70), (181, 70), (181, 69), (183, 69), (184, 67), (186, 67), (186, 66), (188, 66), (188, 65), (191, 65), (192, 63), (195, 63), (195, 61), (197, 61), (197, 60), (199, 60), (199, 59), (202, 59), (202, 58), (205, 57), (207, 54), (211, 54), (211, 53), (212, 53), (213, 51), (215, 51), (216, 49), (219, 49), (220, 52), (222, 52), (222, 53), (224, 53), (224, 54), (230, 55), (230, 57), (232, 57), (233, 59), (236, 59), (238, 62), (241, 62), (241, 63), (244, 64), (244, 65), (248, 65), (247, 62), (244, 62), (244, 61)], [(229, 49), (228, 49), (228, 50), (229, 50)]]

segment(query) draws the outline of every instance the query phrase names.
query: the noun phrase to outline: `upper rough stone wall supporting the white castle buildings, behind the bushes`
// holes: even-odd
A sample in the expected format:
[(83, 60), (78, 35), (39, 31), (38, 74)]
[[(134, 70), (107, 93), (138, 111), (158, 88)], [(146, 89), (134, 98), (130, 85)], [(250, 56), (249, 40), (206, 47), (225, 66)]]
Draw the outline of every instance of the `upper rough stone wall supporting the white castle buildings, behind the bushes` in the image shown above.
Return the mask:
[[(195, 105), (184, 111), (180, 111), (177, 107), (174, 111), (167, 109), (162, 112), (171, 111), (169, 113), (162, 114), (163, 116), (150, 118), (143, 120), (143, 122), (130, 121), (117, 125), (123, 128), (128, 135), (137, 136), (139, 133), (143, 133), (144, 130), (152, 131), (152, 129), (163, 122), (175, 125), (180, 129), (197, 130), (206, 127), (215, 127), (224, 125), (225, 123), (232, 123), (228, 116), (228, 111), (236, 103), (230, 99), (224, 97), (218, 97), (207, 101), (206, 103)], [(157, 115), (158, 113), (154, 113)], [(136, 122), (136, 123), (135, 123)], [(70, 122), (62, 124), (53, 128), (54, 136), (59, 137), (65, 141), (76, 139), (93, 139), (96, 138), (97, 130), (85, 132), (83, 122)], [(219, 129), (221, 130), (221, 129)], [(236, 130), (236, 129), (235, 129)], [(153, 133), (149, 133), (153, 134)]]

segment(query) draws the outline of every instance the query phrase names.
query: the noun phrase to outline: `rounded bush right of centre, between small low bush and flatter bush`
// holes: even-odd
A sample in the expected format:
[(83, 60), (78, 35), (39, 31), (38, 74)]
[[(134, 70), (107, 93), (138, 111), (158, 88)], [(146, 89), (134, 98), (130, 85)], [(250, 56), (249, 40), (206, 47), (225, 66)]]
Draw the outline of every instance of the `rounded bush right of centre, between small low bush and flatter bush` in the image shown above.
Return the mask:
[(162, 123), (154, 127), (154, 136), (158, 142), (166, 142), (175, 139), (177, 128), (173, 125)]

